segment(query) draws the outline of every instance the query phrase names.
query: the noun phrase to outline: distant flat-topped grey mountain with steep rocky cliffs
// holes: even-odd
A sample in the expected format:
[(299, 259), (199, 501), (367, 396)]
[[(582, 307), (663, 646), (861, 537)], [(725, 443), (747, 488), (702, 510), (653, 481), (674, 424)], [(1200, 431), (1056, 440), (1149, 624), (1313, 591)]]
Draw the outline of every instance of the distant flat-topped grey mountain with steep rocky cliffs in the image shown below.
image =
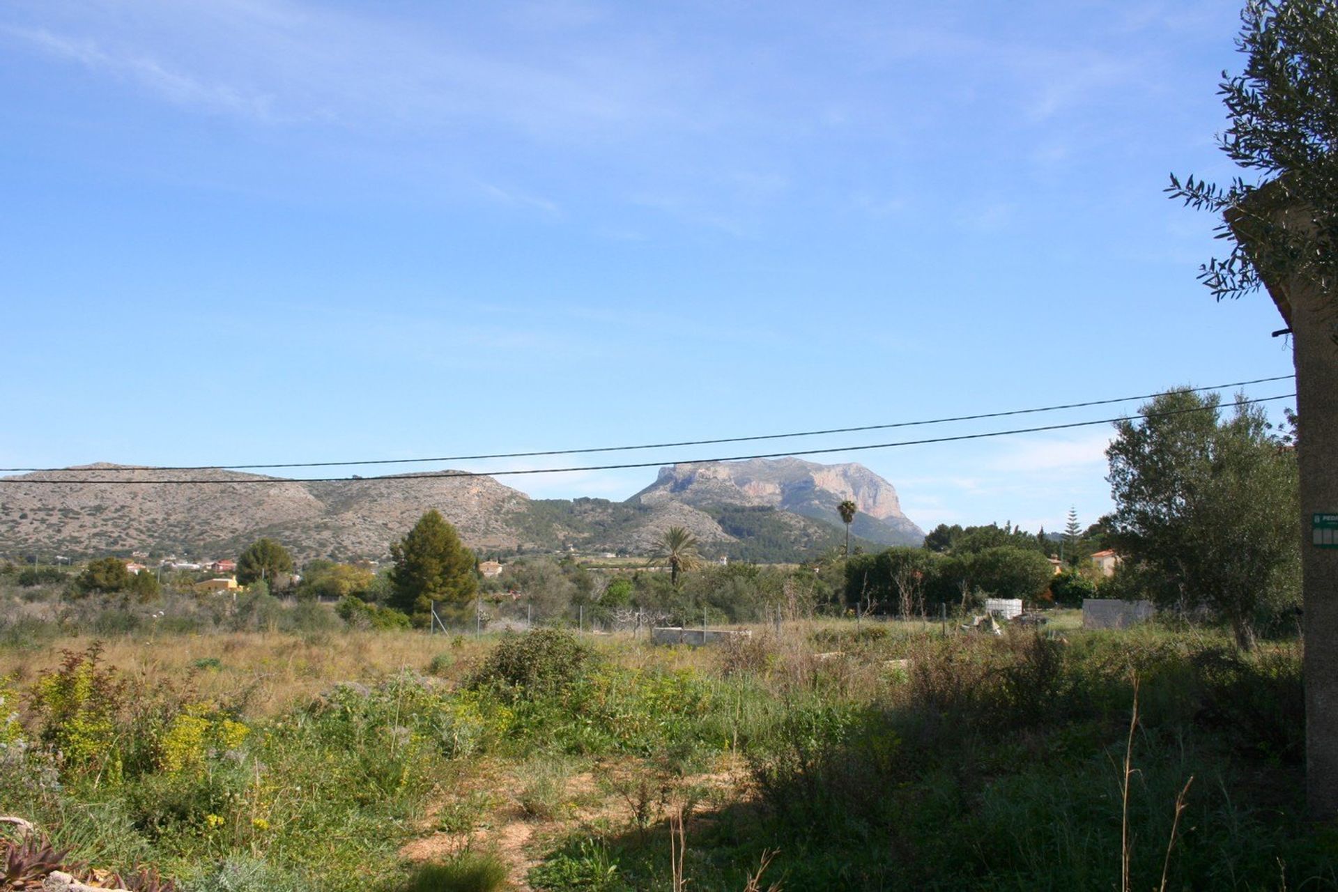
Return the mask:
[(902, 514), (896, 488), (862, 464), (818, 464), (801, 459), (752, 459), (676, 464), (633, 496), (641, 504), (682, 503), (769, 506), (823, 523), (840, 524), (836, 506), (859, 508), (851, 532), (886, 546), (918, 546), (925, 531)]

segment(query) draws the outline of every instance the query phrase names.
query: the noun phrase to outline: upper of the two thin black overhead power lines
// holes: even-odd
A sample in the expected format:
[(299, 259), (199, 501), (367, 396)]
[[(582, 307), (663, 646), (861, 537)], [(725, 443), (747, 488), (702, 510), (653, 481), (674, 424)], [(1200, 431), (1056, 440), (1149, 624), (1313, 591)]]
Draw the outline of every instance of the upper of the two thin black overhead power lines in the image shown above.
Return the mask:
[[(1248, 384), (1267, 384), (1270, 381), (1287, 381), (1297, 377), (1295, 374), (1276, 374), (1267, 378), (1254, 378), (1251, 381), (1231, 381), (1228, 384), (1214, 384), (1211, 386), (1198, 386), (1198, 388), (1177, 388), (1180, 392), (1202, 393), (1206, 391), (1226, 391), (1234, 386), (1246, 386)], [(277, 469), (277, 468), (343, 468), (343, 467), (359, 467), (368, 464), (438, 464), (443, 461), (482, 461), (486, 459), (538, 459), (543, 456), (553, 455), (594, 455), (598, 452), (633, 452), (637, 449), (669, 449), (674, 447), (690, 447), (690, 445), (720, 445), (723, 443), (755, 443), (759, 440), (785, 440), (793, 437), (815, 437), (827, 436), (832, 433), (859, 433), (863, 431), (888, 431), (892, 428), (914, 428), (930, 424), (949, 424), (953, 421), (981, 421), (985, 419), (1004, 419), (1017, 415), (1037, 415), (1041, 412), (1058, 412), (1062, 409), (1084, 409), (1093, 405), (1111, 405), (1115, 403), (1129, 403), (1131, 400), (1151, 400), (1153, 397), (1164, 396), (1167, 391), (1157, 393), (1139, 393), (1135, 396), (1120, 396), (1108, 400), (1088, 400), (1085, 403), (1064, 403), (1060, 405), (1042, 405), (1032, 409), (1009, 409), (1006, 412), (981, 412), (978, 415), (955, 415), (943, 419), (922, 419), (918, 421), (891, 421), (886, 424), (864, 424), (851, 428), (824, 428), (820, 431), (793, 431), (789, 433), (759, 433), (753, 436), (744, 437), (717, 437), (713, 440), (677, 440), (673, 443), (641, 443), (636, 445), (614, 445), (614, 447), (590, 447), (583, 449), (538, 449), (531, 452), (492, 452), (487, 455), (448, 455), (448, 456), (434, 456), (428, 459), (360, 459), (360, 460), (345, 460), (345, 461), (277, 461), (269, 464), (179, 464), (179, 465), (158, 465), (155, 471), (262, 471), (262, 469)], [(876, 447), (870, 447), (876, 448)], [(844, 449), (832, 449), (834, 452), (842, 452)], [(819, 451), (820, 452), (820, 451)], [(795, 455), (809, 455), (795, 453)], [(650, 464), (665, 464), (664, 461), (653, 461), (649, 464), (640, 465), (626, 465), (626, 467), (649, 467)], [(103, 468), (107, 473), (130, 472), (136, 468)], [(0, 468), (0, 473), (45, 473), (52, 471), (64, 471), (64, 468)], [(507, 472), (514, 473), (514, 472)], [(340, 477), (343, 479), (343, 477)]]

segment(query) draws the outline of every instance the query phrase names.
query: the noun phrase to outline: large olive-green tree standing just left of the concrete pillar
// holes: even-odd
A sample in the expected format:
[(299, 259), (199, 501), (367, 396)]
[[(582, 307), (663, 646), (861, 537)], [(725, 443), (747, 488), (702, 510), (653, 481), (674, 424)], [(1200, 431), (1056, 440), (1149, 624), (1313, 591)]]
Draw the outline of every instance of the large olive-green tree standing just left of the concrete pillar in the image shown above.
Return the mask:
[(1259, 610), (1297, 594), (1295, 455), (1262, 409), (1222, 419), (1215, 395), (1173, 391), (1141, 415), (1107, 451), (1116, 547), (1160, 580), (1153, 596), (1215, 610), (1248, 649)]

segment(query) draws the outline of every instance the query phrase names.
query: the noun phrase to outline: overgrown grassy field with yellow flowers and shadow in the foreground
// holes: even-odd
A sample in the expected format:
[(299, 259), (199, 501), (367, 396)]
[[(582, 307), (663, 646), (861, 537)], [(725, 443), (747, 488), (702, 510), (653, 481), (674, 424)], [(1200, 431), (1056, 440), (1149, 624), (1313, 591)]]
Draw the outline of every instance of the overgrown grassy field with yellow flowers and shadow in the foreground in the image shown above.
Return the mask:
[(181, 889), (1338, 888), (1294, 645), (135, 635), (0, 675), (0, 813)]

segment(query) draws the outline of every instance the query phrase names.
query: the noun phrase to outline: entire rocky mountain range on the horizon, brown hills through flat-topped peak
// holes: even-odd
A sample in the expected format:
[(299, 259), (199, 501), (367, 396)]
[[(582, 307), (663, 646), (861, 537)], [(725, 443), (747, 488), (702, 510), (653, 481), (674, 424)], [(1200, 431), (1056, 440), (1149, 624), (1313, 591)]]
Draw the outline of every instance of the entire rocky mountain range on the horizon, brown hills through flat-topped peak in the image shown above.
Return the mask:
[[(7, 477), (0, 484), (0, 555), (36, 552), (50, 559), (56, 552), (95, 556), (134, 550), (221, 556), (273, 536), (300, 559), (380, 559), (424, 511), (436, 508), (467, 544), (486, 551), (571, 546), (645, 554), (665, 528), (680, 526), (701, 540), (706, 554), (795, 559), (840, 540), (835, 504), (851, 497), (847, 492), (860, 506), (856, 536), (868, 543), (922, 536), (900, 514), (891, 484), (860, 465), (781, 461), (769, 463), (776, 468), (768, 471), (765, 464), (665, 468), (654, 485), (628, 501), (530, 499), (486, 476), (320, 483), (92, 464)], [(210, 483), (174, 483), (183, 476)], [(139, 483), (82, 481), (90, 477)], [(899, 539), (896, 530), (904, 534)]]

